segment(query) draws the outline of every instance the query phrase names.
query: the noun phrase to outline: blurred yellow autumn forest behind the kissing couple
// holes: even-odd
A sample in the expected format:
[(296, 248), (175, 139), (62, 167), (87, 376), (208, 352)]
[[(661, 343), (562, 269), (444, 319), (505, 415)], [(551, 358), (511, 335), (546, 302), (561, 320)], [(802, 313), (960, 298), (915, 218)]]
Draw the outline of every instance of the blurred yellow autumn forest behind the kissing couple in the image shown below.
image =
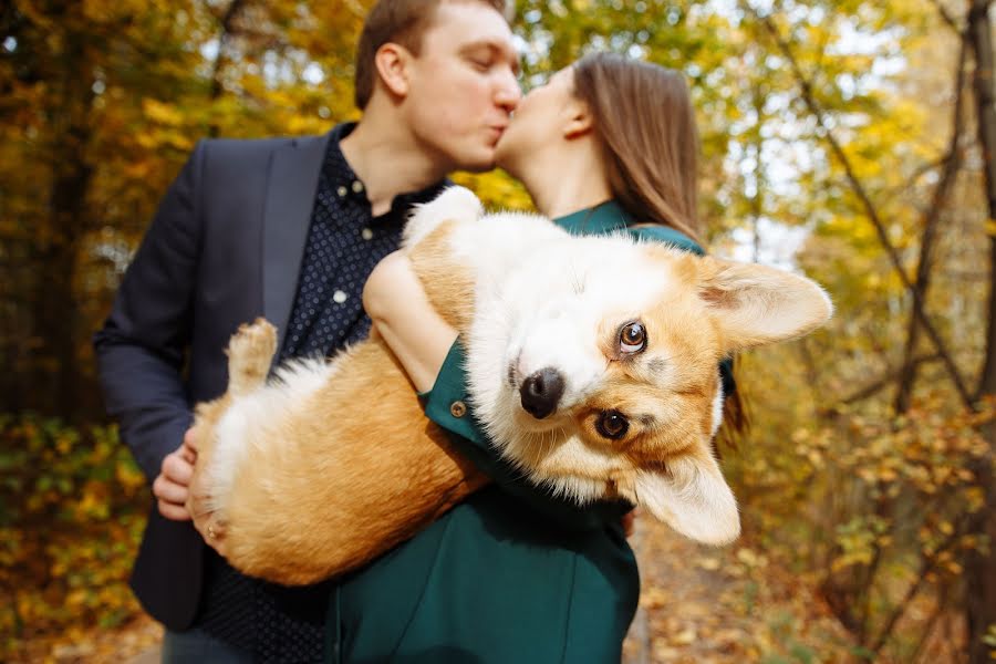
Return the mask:
[[(795, 588), (834, 629), (788, 609), (744, 652), (996, 661), (989, 2), (517, 4), (523, 87), (591, 50), (683, 71), (712, 250), (803, 270), (836, 302), (824, 331), (738, 361), (754, 424), (723, 449), (745, 592)], [(369, 6), (0, 3), (0, 660), (81, 657), (141, 615), (126, 578), (149, 492), (91, 334), (198, 138), (356, 116)], [(457, 179), (528, 207), (501, 173)]]

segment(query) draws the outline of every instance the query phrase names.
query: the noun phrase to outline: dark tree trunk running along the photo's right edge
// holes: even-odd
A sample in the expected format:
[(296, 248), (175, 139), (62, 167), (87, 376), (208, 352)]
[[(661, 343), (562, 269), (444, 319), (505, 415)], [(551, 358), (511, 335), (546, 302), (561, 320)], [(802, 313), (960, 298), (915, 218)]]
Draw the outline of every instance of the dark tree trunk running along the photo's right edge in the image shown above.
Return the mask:
[[(996, 219), (996, 107), (993, 87), (993, 25), (989, 0), (972, 0), (968, 12), (968, 35), (975, 53), (975, 103), (978, 115), (978, 141), (983, 151), (988, 218)], [(986, 359), (979, 380), (978, 396), (996, 394), (996, 237), (989, 239), (989, 315)], [(990, 625), (996, 625), (996, 481), (993, 457), (996, 455), (996, 425), (983, 429), (989, 443), (989, 455), (974, 470), (985, 492), (985, 507), (976, 515), (973, 531), (988, 536), (985, 553), (969, 552), (966, 572), (966, 618), (968, 620), (968, 662), (989, 664), (993, 649), (983, 642)]]

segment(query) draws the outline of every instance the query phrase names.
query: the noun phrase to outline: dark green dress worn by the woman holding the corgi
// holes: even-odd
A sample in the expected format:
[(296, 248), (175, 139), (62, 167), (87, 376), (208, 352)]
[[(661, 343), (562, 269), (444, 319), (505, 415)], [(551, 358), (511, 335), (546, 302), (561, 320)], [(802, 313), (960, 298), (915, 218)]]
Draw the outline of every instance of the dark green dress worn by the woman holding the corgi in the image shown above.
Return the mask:
[[(614, 201), (556, 222), (573, 234), (622, 230), (702, 253), (668, 228), (629, 228)], [(326, 661), (618, 662), (640, 596), (620, 523), (631, 506), (579, 508), (518, 477), (473, 414), (450, 408), (467, 402), (463, 357), (457, 342), (423, 395), (426, 414), (496, 481), (335, 587)]]

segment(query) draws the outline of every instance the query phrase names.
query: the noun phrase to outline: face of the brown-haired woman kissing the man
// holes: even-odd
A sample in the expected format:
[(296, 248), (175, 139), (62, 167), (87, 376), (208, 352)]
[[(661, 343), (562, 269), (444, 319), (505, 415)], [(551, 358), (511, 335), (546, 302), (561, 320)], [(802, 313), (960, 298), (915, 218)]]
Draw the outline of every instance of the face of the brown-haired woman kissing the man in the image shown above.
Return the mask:
[(574, 71), (569, 66), (553, 74), (544, 85), (533, 87), (519, 102), (508, 128), (498, 141), (495, 153), (498, 166), (517, 175), (519, 164), (540, 147), (563, 136), (578, 104)]

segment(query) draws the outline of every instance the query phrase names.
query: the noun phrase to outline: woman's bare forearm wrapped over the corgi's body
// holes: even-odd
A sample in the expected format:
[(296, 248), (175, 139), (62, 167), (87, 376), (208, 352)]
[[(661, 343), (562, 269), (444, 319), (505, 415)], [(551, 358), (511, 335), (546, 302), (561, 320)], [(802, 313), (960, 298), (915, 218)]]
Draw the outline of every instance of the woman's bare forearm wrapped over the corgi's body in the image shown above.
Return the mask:
[(363, 308), (415, 390), (432, 390), (457, 332), (433, 309), (403, 252), (374, 268), (363, 287)]

